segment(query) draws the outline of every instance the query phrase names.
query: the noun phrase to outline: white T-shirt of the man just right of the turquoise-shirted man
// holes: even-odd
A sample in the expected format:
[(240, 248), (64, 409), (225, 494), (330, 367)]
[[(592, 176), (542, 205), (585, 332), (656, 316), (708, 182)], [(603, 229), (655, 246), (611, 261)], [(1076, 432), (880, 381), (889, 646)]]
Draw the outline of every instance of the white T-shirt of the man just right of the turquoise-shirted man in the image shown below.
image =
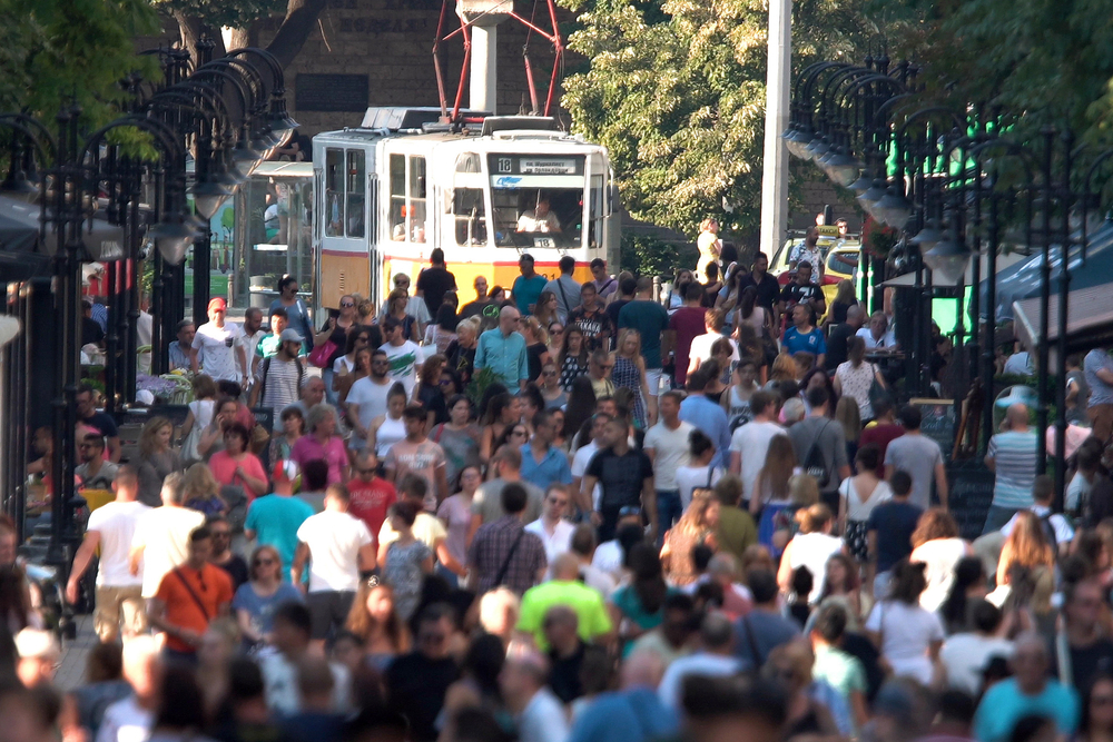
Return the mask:
[(309, 592), (355, 591), (359, 587), (359, 550), (373, 543), (359, 518), (324, 511), (297, 528), (297, 540), (309, 547)]

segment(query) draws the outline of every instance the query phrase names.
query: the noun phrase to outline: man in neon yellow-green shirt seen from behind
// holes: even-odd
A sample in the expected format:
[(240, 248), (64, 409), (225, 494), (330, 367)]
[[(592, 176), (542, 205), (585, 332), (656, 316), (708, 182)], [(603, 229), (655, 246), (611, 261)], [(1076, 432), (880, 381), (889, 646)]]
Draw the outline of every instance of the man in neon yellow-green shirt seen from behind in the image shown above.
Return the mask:
[(553, 578), (530, 587), (522, 595), (518, 631), (533, 634), (538, 649), (549, 651), (544, 621), (549, 609), (563, 605), (572, 609), (579, 619), (580, 639), (585, 642), (611, 633), (611, 617), (607, 613), (602, 594), (580, 582), (580, 562), (569, 553), (561, 554), (552, 564)]

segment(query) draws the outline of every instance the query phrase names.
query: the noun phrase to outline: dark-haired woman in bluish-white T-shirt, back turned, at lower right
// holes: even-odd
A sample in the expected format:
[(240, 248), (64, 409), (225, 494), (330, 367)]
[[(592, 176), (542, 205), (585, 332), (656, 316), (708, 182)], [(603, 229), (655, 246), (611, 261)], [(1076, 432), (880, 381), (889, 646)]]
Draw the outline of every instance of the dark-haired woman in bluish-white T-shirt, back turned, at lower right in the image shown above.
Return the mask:
[(878, 601), (866, 620), (866, 633), (896, 677), (910, 677), (932, 687), (942, 676), (939, 647), (943, 622), (919, 605), (927, 586), (924, 565), (902, 560), (893, 567), (889, 595)]

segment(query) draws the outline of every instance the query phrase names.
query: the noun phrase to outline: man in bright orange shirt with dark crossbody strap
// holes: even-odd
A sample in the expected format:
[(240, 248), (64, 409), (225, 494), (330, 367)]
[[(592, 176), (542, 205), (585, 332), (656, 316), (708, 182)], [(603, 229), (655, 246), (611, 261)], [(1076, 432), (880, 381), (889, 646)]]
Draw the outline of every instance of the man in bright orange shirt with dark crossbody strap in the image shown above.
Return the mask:
[(194, 662), (209, 622), (228, 615), (232, 577), (209, 564), (211, 553), (213, 534), (208, 527), (194, 528), (186, 563), (166, 573), (147, 606), (150, 625), (166, 633), (166, 653), (170, 657)]

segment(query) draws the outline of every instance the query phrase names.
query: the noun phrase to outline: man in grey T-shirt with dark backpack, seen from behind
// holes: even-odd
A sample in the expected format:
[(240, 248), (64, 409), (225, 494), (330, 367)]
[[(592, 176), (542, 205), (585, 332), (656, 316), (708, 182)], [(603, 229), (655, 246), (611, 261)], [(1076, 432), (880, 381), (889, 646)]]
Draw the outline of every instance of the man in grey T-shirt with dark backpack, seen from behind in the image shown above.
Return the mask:
[(826, 387), (808, 389), (808, 407), (811, 414), (788, 428), (788, 437), (806, 474), (816, 478), (819, 499), (833, 513), (838, 512), (839, 483), (850, 476), (850, 463), (846, 456), (846, 436), (838, 421), (827, 416), (830, 396)]

